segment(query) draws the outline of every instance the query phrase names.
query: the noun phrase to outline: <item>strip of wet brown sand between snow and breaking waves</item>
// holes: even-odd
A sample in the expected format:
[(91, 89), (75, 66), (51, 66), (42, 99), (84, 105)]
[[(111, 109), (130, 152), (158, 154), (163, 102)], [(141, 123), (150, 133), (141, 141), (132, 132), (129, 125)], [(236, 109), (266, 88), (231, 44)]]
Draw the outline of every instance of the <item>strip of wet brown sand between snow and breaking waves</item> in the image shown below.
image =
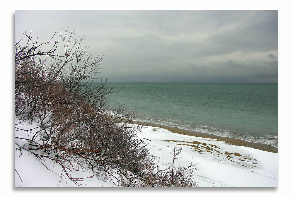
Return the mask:
[(191, 130), (186, 130), (186, 129), (180, 129), (178, 127), (166, 126), (166, 125), (156, 124), (156, 123), (145, 123), (142, 121), (133, 121), (132, 124), (159, 127), (159, 128), (167, 129), (168, 131), (171, 131), (173, 133), (178, 133), (178, 134), (182, 134), (182, 135), (195, 136), (195, 137), (201, 137), (201, 138), (211, 138), (211, 139), (216, 139), (218, 141), (224, 141), (225, 143), (231, 144), (231, 145), (246, 146), (246, 147), (250, 147), (250, 148), (254, 148), (254, 149), (258, 149), (258, 150), (263, 150), (263, 151), (268, 151), (268, 152), (272, 152), (272, 153), (279, 153), (279, 148), (272, 146), (272, 145), (268, 145), (268, 144), (249, 142), (249, 141), (236, 139), (236, 138), (221, 137), (221, 136), (217, 136), (214, 134), (202, 133), (202, 132), (191, 131)]

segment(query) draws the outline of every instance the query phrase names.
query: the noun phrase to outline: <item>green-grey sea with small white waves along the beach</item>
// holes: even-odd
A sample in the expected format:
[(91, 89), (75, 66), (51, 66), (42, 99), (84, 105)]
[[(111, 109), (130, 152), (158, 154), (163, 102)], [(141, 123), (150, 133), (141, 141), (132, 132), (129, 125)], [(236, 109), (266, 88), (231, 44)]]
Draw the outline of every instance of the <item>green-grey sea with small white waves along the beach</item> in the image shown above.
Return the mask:
[[(138, 121), (210, 133), (278, 148), (277, 83), (109, 83), (111, 107)], [(118, 91), (119, 90), (119, 91)]]

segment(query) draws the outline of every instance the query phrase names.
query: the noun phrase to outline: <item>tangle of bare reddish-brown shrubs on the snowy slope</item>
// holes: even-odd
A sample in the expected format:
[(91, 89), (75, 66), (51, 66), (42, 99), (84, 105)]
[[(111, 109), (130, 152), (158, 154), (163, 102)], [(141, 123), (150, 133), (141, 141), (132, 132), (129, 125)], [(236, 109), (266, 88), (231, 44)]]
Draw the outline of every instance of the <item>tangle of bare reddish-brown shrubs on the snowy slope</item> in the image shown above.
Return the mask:
[[(36, 121), (35, 132), (29, 133), (25, 148), (40, 160), (54, 160), (75, 184), (82, 178), (71, 177), (71, 170), (87, 166), (105, 179), (130, 186), (120, 177), (140, 182), (133, 186), (194, 186), (192, 167), (156, 171), (148, 145), (135, 138), (143, 126), (131, 124), (135, 111), (124, 107), (110, 109), (106, 95), (113, 87), (94, 83), (102, 57), (93, 57), (82, 45), (84, 37), (75, 37), (68, 28), (57, 33), (64, 54), (55, 54), (59, 41), (42, 52), (46, 43), (37, 44), (25, 34), (24, 47), (15, 43), (15, 115), (22, 121)], [(173, 160), (181, 151), (174, 148)], [(130, 173), (131, 172), (131, 173)]]

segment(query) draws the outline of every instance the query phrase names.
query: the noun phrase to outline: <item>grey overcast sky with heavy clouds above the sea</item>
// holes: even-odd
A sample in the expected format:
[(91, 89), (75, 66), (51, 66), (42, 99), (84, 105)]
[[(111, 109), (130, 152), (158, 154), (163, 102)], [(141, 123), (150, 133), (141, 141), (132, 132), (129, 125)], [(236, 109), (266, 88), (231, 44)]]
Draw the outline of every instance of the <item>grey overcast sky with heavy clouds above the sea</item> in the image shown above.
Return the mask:
[(278, 83), (278, 11), (15, 11), (16, 40), (67, 26), (110, 82)]

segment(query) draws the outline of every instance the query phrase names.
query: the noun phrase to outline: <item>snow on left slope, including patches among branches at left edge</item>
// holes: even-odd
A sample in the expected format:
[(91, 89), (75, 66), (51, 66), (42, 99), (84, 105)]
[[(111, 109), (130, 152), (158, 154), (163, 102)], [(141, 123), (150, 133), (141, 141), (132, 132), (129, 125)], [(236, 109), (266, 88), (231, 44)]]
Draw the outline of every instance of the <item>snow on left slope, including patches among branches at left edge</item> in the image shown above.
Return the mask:
[[(18, 118), (15, 118), (15, 124), (18, 124)], [(38, 131), (38, 123), (33, 121), (24, 121), (15, 128), (15, 136), (18, 138), (30, 138), (35, 131)], [(21, 129), (32, 129), (29, 133)], [(76, 187), (64, 172), (62, 167), (49, 159), (38, 159), (28, 150), (25, 150), (26, 140), (15, 138), (15, 147), (22, 147), (22, 153), (14, 149), (14, 186), (15, 187)], [(84, 171), (84, 172), (82, 172)], [(62, 174), (62, 176), (60, 176)], [(71, 171), (72, 178), (94, 177), (79, 181), (87, 187), (112, 187), (113, 183), (97, 179), (91, 169), (80, 169), (80, 171)]]

